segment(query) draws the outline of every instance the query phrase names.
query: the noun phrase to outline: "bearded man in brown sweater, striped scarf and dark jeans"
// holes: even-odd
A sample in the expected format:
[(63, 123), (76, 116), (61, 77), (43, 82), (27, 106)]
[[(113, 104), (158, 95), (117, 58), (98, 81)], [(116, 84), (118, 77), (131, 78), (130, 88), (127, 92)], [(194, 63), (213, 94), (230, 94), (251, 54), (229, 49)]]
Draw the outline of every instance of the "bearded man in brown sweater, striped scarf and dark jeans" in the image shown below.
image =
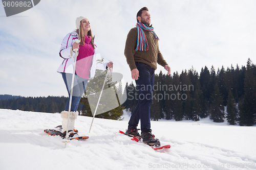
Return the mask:
[[(158, 47), (159, 38), (153, 31), (150, 13), (143, 7), (137, 13), (137, 25), (127, 35), (124, 55), (130, 66), (132, 79), (135, 80), (139, 90), (138, 104), (132, 113), (128, 129), (125, 134), (141, 137), (148, 145), (160, 145), (155, 139), (150, 123), (150, 107), (152, 103), (152, 88), (157, 63), (162, 65), (170, 74), (170, 67), (164, 60)], [(140, 120), (141, 135), (137, 126)]]

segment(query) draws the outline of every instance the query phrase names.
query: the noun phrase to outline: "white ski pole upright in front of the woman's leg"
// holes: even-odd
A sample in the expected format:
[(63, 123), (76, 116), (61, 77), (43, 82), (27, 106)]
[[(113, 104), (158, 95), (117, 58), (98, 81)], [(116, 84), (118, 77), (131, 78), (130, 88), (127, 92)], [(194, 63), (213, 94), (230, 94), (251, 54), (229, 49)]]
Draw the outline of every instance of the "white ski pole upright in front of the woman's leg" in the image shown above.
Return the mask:
[[(79, 43), (80, 40), (75, 40), (75, 42)], [(73, 51), (75, 51), (75, 61), (74, 61), (74, 70), (73, 70), (73, 76), (72, 76), (72, 83), (71, 83), (71, 89), (70, 89), (70, 98), (69, 98), (69, 114), (68, 114), (68, 129), (66, 132), (66, 140), (63, 142), (69, 142), (68, 141), (68, 131), (69, 131), (69, 119), (70, 119), (70, 112), (71, 112), (71, 104), (72, 104), (72, 96), (73, 96), (73, 87), (74, 87), (74, 79), (75, 79), (75, 70), (76, 70), (76, 58), (77, 58), (77, 52), (78, 49), (75, 48)], [(66, 143), (65, 143), (65, 148), (66, 148)]]

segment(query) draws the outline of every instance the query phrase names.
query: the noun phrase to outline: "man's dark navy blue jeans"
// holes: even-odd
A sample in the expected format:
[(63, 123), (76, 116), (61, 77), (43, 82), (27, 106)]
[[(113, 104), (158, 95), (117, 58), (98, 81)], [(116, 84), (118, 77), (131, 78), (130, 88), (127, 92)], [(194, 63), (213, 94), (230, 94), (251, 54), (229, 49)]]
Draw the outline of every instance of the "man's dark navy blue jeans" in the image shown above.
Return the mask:
[(155, 69), (141, 62), (135, 62), (135, 64), (139, 70), (139, 79), (135, 81), (139, 90), (139, 96), (137, 96), (138, 104), (131, 115), (128, 129), (137, 127), (140, 120), (141, 132), (144, 132), (151, 130), (150, 107), (153, 97), (152, 88), (154, 85)]

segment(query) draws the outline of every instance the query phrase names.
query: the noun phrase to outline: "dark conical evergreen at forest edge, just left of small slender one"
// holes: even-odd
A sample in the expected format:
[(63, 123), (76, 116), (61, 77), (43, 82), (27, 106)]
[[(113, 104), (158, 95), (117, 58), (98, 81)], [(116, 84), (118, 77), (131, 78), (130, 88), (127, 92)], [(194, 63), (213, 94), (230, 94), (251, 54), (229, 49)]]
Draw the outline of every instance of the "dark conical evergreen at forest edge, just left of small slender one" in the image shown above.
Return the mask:
[(217, 123), (224, 122), (223, 98), (217, 83), (214, 87), (214, 92), (211, 95), (211, 100), (210, 119)]

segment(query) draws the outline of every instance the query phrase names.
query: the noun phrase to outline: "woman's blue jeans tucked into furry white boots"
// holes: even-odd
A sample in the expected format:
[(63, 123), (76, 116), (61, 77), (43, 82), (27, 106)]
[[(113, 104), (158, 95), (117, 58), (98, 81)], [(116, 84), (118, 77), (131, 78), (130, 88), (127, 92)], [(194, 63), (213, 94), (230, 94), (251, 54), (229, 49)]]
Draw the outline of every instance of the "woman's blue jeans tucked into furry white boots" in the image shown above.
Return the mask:
[[(72, 84), (72, 74), (62, 72), (62, 78), (65, 82), (65, 85), (67, 87), (68, 93), (69, 93), (69, 99), (66, 104), (65, 110), (69, 111), (69, 102), (70, 102), (70, 90), (71, 90), (71, 84)], [(78, 104), (80, 102), (80, 99), (82, 97), (82, 94), (84, 90), (86, 90), (88, 80), (80, 78), (75, 74), (74, 78), (74, 87), (73, 87), (73, 95), (72, 95), (72, 103), (71, 103), (71, 111), (77, 111)]]

